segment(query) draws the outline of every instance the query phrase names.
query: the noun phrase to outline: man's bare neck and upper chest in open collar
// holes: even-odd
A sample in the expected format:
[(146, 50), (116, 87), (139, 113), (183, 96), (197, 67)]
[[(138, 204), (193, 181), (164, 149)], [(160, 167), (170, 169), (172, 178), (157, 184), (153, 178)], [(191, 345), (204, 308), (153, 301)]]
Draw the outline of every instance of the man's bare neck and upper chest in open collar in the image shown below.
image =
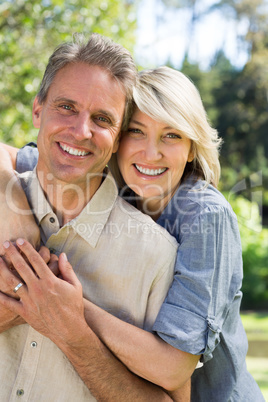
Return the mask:
[(95, 177), (91, 175), (90, 180), (81, 184), (72, 184), (57, 180), (52, 175), (51, 179), (50, 177), (49, 180), (44, 179), (45, 175), (39, 171), (37, 171), (37, 176), (45, 197), (57, 215), (61, 226), (82, 212), (100, 187), (103, 177), (100, 174)]

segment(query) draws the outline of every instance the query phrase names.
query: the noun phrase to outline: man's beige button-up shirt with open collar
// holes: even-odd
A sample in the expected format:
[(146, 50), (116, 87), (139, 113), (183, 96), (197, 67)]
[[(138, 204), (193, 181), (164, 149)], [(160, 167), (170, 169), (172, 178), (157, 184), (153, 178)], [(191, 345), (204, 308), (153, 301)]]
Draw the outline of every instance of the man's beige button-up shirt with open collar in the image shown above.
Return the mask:
[[(175, 239), (118, 197), (110, 174), (80, 215), (62, 228), (35, 173), (20, 177), (43, 244), (67, 254), (84, 296), (150, 330), (173, 278)], [(61, 350), (28, 324), (0, 334), (0, 356), (1, 402), (95, 401)]]

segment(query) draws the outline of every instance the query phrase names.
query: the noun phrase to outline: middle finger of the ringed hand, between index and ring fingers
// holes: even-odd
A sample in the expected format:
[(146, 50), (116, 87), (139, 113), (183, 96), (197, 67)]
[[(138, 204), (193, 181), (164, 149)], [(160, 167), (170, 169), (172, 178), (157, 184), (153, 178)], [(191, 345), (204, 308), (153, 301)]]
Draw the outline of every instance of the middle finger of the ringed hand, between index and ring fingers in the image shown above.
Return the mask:
[[(5, 248), (5, 256), (7, 256), (10, 259), (13, 267), (18, 272), (18, 274), (21, 276), (21, 278), (24, 280), (24, 282), (29, 284), (34, 279), (36, 280), (36, 275), (33, 272), (32, 267), (28, 264), (27, 261), (25, 261), (25, 259), (23, 258), (23, 256), (20, 253), (20, 250), (17, 250), (17, 248), (8, 241), (6, 241), (3, 245)], [(45, 264), (43, 262), (43, 259), (40, 256), (39, 256), (39, 258), (42, 261), (42, 263)]]

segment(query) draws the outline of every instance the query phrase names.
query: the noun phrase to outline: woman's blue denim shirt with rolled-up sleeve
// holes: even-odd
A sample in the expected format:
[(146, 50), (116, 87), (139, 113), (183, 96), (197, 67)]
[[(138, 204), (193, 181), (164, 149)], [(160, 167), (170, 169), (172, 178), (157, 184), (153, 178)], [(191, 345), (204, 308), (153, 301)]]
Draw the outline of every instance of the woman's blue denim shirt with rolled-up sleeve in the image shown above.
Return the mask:
[[(32, 170), (38, 151), (19, 150), (17, 170)], [(246, 368), (240, 319), (243, 277), (237, 219), (213, 186), (187, 179), (157, 223), (178, 241), (175, 275), (153, 330), (167, 343), (202, 355), (192, 375), (194, 402), (263, 402)]]

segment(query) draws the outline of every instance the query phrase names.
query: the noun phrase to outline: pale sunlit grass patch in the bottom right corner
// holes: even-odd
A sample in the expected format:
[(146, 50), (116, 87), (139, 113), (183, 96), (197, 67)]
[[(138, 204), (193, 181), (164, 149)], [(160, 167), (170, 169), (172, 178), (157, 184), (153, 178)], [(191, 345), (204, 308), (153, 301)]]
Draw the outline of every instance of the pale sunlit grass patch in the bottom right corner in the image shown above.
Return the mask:
[(241, 318), (249, 340), (247, 367), (268, 402), (268, 312), (243, 312)]

